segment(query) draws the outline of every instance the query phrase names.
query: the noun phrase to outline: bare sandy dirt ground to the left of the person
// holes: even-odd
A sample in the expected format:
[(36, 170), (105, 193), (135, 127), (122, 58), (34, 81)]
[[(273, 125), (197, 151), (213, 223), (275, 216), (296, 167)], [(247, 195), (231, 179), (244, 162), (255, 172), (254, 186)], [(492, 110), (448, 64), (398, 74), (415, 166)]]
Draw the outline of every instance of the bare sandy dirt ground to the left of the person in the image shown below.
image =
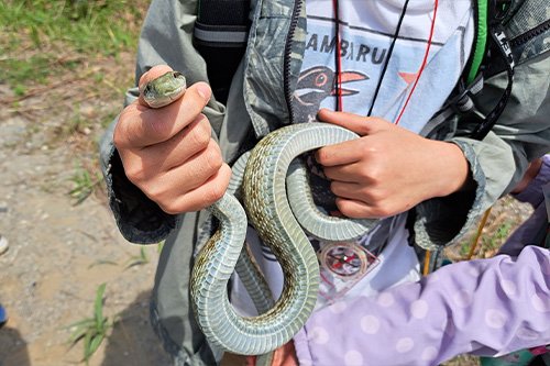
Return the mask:
[[(0, 100), (10, 98), (0, 84)], [(43, 110), (22, 112), (31, 104)], [(120, 104), (121, 99), (74, 108), (86, 114)], [(0, 303), (9, 315), (0, 330), (0, 366), (80, 364), (82, 345), (70, 347), (69, 325), (92, 315), (103, 282), (103, 313), (117, 322), (90, 365), (167, 364), (148, 321), (156, 245), (145, 247), (147, 263), (131, 266), (140, 247), (119, 234), (105, 193), (80, 204), (67, 195), (77, 157), (96, 154), (78, 151), (69, 140), (55, 141), (70, 107), (54, 112), (36, 100), (16, 106), (16, 111), (0, 108), (0, 208), (7, 209), (0, 212), (0, 233), (10, 242), (0, 256)], [(90, 140), (100, 135), (99, 129), (84, 133)]]

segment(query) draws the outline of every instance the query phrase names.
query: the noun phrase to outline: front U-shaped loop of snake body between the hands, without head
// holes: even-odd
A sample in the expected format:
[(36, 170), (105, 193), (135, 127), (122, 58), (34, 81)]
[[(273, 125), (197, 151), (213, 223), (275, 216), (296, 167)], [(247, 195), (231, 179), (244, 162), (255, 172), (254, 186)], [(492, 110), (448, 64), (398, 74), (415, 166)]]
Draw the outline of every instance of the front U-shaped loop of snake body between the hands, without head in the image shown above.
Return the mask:
[[(242, 187), (245, 211), (229, 193), (209, 208), (220, 226), (196, 257), (190, 291), (197, 322), (211, 345), (242, 355), (265, 354), (304, 326), (316, 304), (319, 265), (289, 207), (287, 170), (307, 151), (356, 137), (349, 130), (318, 122), (278, 129), (257, 143), (248, 160)], [(243, 246), (246, 215), (284, 274), (279, 299), (257, 317), (240, 315), (227, 291)]]

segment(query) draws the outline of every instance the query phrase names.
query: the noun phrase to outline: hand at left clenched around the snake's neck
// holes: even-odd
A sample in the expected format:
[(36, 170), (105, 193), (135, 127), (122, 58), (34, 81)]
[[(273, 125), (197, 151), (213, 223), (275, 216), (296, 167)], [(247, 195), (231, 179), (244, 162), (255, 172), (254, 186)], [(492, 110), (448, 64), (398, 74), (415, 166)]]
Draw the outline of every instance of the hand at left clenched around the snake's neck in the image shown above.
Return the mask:
[[(153, 67), (143, 74), (140, 87), (170, 70)], [(211, 92), (206, 82), (197, 82), (160, 109), (147, 107), (140, 96), (122, 111), (114, 129), (128, 179), (166, 213), (201, 210), (219, 200), (229, 185), (231, 169), (201, 113)]]

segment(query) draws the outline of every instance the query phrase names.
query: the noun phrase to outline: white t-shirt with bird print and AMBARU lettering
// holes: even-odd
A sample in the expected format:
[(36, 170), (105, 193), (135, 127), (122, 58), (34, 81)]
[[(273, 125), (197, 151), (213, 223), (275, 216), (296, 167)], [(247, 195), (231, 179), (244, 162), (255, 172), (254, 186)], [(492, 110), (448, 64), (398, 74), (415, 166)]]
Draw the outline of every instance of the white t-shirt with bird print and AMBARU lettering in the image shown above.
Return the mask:
[[(380, 82), (371, 115), (395, 122), (402, 112), (427, 53), (435, 1), (409, 1), (388, 57), (404, 3), (404, 0), (339, 0), (343, 111), (366, 115)], [(333, 93), (337, 48), (332, 0), (307, 0), (306, 10), (306, 51), (293, 101), (297, 123), (312, 121), (319, 108), (337, 108)], [(433, 25), (426, 67), (399, 120), (400, 126), (417, 133), (443, 106), (468, 60), (474, 30), (471, 1), (439, 1)], [(386, 73), (380, 81), (386, 63)], [(408, 245), (405, 221), (406, 214), (386, 219), (371, 234), (358, 241), (356, 244), (365, 251), (375, 247), (381, 252), (375, 252), (377, 259), (366, 275), (348, 282), (353, 285), (351, 288), (345, 281), (323, 276), (323, 269), (324, 274), (330, 271), (327, 264), (321, 263), (317, 309), (338, 300), (340, 296), (374, 295), (419, 279), (419, 264), (415, 251)], [(381, 241), (384, 241), (383, 245), (378, 243)], [(278, 297), (283, 289), (278, 263), (265, 247), (261, 247), (253, 230), (248, 233), (248, 243), (273, 293)], [(328, 244), (316, 245), (314, 247), (320, 252)], [(238, 278), (233, 281), (231, 302), (241, 313), (256, 313)]]

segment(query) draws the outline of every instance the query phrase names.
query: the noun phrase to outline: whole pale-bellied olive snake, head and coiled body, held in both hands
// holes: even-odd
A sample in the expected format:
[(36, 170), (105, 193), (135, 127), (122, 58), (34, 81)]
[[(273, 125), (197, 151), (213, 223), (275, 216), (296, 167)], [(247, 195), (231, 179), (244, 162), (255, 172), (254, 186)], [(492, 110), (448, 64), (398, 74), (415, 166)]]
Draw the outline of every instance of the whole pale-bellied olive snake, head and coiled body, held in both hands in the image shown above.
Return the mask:
[[(185, 91), (186, 78), (178, 71), (166, 73), (141, 88), (143, 100), (152, 108), (163, 108)], [(207, 208), (219, 225), (197, 254), (190, 279), (195, 318), (211, 346), (241, 355), (268, 354), (304, 326), (319, 288), (319, 264), (308, 234), (349, 241), (364, 235), (375, 221), (331, 218), (316, 209), (306, 168), (296, 162), (306, 152), (358, 137), (329, 123), (289, 124), (264, 136), (241, 163), (244, 168), (233, 166), (233, 188)], [(242, 202), (234, 195), (237, 190)], [(265, 279), (256, 270), (242, 268), (255, 267), (244, 245), (249, 221), (280, 264), (284, 286), (276, 301), (265, 293)], [(235, 270), (249, 273), (250, 278), (243, 280), (248, 291), (264, 298), (263, 302), (254, 300), (258, 315), (241, 315), (231, 306), (228, 284)]]

